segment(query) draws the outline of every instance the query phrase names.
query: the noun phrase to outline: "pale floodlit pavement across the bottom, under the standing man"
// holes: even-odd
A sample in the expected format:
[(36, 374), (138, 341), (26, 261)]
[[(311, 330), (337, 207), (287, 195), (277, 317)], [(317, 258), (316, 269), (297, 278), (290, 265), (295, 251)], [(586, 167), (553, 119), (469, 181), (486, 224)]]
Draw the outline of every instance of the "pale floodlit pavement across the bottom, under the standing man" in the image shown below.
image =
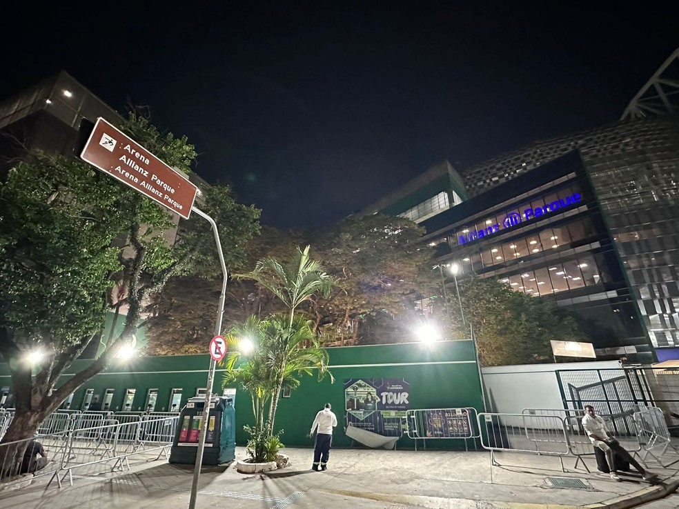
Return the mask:
[[(328, 470), (311, 470), (311, 449), (284, 449), (286, 468), (244, 475), (229, 466), (205, 467), (199, 482), (197, 507), (237, 509), (625, 509), (676, 490), (678, 468), (658, 472), (661, 486), (640, 477), (616, 482), (596, 470), (593, 459), (574, 470), (574, 458), (498, 454), (502, 466), (491, 466), (488, 452), (440, 450), (333, 449)], [(237, 448), (244, 459), (244, 448)], [(21, 490), (2, 492), (0, 506), (9, 508), (187, 508), (193, 466), (166, 461), (134, 463), (125, 472), (104, 466), (74, 471), (73, 486), (49, 477), (35, 479)], [(108, 470), (108, 471), (107, 471)], [(579, 488), (575, 488), (578, 485)], [(558, 487), (565, 486), (565, 487)]]

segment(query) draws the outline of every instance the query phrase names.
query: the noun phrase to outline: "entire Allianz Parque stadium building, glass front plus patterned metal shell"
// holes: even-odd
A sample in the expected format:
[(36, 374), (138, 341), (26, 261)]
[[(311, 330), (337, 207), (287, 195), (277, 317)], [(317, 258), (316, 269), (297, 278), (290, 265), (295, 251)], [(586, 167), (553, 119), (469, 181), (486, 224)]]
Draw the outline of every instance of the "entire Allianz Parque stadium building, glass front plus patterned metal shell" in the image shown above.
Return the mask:
[[(618, 121), (449, 170), (462, 180), (461, 203), (417, 222), (458, 278), (498, 277), (578, 312), (601, 359), (650, 362), (654, 349), (679, 347), (679, 115)], [(431, 171), (362, 213), (424, 206), (444, 190), (423, 178)]]

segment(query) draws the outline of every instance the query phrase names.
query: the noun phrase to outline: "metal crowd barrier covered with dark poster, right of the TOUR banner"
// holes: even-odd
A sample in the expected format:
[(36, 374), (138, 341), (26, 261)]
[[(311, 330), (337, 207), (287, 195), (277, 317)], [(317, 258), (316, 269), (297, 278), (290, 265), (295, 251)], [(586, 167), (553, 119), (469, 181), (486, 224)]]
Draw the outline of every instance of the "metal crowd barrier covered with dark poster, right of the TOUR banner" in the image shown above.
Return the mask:
[(468, 440), (480, 436), (476, 427), (475, 408), (422, 408), (407, 410), (405, 419), (406, 435), (415, 441), (422, 440), (424, 448), (426, 441), (431, 439), (462, 439), (465, 450), (469, 450)]

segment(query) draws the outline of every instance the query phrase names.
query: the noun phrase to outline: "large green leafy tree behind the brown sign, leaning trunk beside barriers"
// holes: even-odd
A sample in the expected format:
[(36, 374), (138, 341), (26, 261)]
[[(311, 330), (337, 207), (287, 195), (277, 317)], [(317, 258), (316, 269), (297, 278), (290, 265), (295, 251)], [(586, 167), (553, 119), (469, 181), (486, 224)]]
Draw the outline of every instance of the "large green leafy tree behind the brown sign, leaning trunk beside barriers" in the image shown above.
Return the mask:
[[(120, 127), (168, 165), (189, 171), (195, 150), (186, 138), (161, 134), (138, 112)], [(208, 191), (205, 209), (224, 224), (239, 218), (224, 238), (245, 243), (257, 231), (259, 211), (229, 203), (228, 192)], [(35, 154), (10, 170), (0, 186), (0, 353), (10, 368), (16, 412), (3, 442), (31, 437), (61, 401), (101, 372), (169, 277), (215, 270), (205, 255), (210, 241), (215, 250), (208, 228), (187, 229), (170, 243), (164, 232), (173, 228), (170, 212), (81, 161)], [(114, 284), (117, 292), (110, 291)], [(126, 308), (121, 335), (60, 384), (114, 304)], [(26, 356), (36, 350), (42, 359), (32, 366)]]

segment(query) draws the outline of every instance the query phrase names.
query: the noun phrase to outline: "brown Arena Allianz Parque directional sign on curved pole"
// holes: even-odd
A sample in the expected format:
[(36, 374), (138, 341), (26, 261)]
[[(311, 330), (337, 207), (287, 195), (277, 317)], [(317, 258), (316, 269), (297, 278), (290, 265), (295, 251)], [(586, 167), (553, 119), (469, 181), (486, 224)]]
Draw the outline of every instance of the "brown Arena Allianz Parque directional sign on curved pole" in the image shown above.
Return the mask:
[(196, 186), (106, 120), (97, 119), (80, 157), (184, 219), (191, 214)]

